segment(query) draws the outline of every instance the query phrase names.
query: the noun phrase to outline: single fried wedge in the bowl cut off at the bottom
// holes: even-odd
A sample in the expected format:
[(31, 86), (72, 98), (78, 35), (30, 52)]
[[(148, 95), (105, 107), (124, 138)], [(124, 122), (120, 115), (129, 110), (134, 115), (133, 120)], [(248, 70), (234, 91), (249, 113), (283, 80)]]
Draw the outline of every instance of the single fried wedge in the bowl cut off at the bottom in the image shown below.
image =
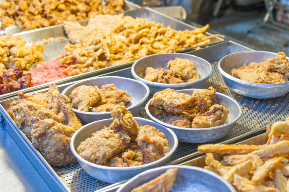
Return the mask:
[(131, 192), (169, 192), (175, 182), (178, 169), (168, 169), (155, 179), (135, 187)]

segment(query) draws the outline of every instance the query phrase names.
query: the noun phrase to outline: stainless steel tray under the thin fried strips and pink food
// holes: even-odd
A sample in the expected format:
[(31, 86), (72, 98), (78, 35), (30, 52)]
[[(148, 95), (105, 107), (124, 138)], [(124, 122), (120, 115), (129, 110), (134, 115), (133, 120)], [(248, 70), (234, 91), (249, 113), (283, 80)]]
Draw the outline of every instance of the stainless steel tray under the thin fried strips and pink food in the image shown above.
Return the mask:
[[(156, 10), (153, 10), (151, 8), (143, 7), (141, 9), (137, 9), (138, 7), (136, 7), (135, 4), (129, 3), (128, 1), (126, 1), (126, 4), (127, 4), (127, 6), (129, 5), (129, 9), (134, 9), (134, 10), (125, 11), (124, 12), (125, 15), (129, 15), (129, 16), (132, 16), (134, 18), (136, 18), (136, 17), (144, 18), (147, 21), (156, 21), (157, 23), (163, 23), (165, 26), (169, 25), (173, 29), (176, 29), (176, 30), (185, 30), (185, 29), (194, 30), (194, 29), (196, 29), (196, 27), (194, 27), (194, 26), (191, 26), (185, 22), (181, 22), (177, 19), (169, 17), (163, 13), (159, 13)], [(89, 19), (85, 19), (85, 20), (76, 21), (76, 22), (79, 22), (82, 25), (86, 25), (88, 20)], [(206, 34), (212, 35), (209, 32), (206, 32)], [(27, 45), (32, 44), (33, 42), (42, 43), (43, 39), (48, 39), (48, 38), (52, 37), (53, 42), (45, 44), (45, 49), (42, 53), (43, 58), (44, 58), (44, 62), (53, 59), (57, 55), (61, 55), (61, 52), (64, 51), (65, 44), (68, 43), (63, 24), (45, 27), (45, 28), (40, 28), (40, 29), (33, 29), (30, 31), (24, 31), (24, 32), (17, 33), (14, 35), (20, 35), (23, 39), (25, 39)], [(219, 37), (215, 37), (215, 38), (212, 38), (211, 41), (212, 41), (211, 44), (207, 44), (204, 46), (217, 44), (219, 42), (222, 42), (223, 39), (219, 38)], [(191, 49), (194, 49), (194, 48), (184, 49), (184, 50), (181, 50), (179, 52), (187, 52), (187, 51), (190, 51)], [(98, 69), (95, 71), (90, 71), (87, 73), (82, 73), (79, 75), (70, 76), (70, 77), (67, 77), (64, 79), (59, 79), (59, 80), (53, 81), (53, 83), (56, 85), (61, 85), (63, 83), (76, 81), (79, 79), (85, 79), (85, 78), (89, 78), (92, 76), (97, 76), (100, 74), (104, 74), (104, 73), (112, 72), (115, 70), (123, 69), (125, 67), (130, 67), (132, 64), (133, 64), (133, 61), (127, 62), (124, 64), (119, 64), (116, 66), (105, 67), (105, 68)], [(33, 68), (33, 66), (30, 66), (30, 68)], [(36, 85), (34, 87), (22, 89), (21, 91), (23, 91), (23, 93), (27, 93), (27, 92), (39, 90), (42, 88), (47, 88), (50, 83), (51, 82), (44, 83), (42, 85)], [(15, 95), (17, 95), (17, 92), (18, 91), (14, 91), (14, 92), (0, 95), (0, 100), (15, 96)]]

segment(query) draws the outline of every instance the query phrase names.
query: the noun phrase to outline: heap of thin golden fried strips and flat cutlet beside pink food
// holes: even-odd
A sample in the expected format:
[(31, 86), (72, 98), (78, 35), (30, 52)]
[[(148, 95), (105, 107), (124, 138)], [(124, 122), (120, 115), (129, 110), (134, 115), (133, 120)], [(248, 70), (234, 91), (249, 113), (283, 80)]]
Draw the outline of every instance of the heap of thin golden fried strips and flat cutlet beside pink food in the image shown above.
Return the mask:
[(85, 27), (67, 22), (64, 28), (70, 42), (76, 43), (66, 45), (66, 53), (62, 55), (61, 63), (70, 63), (72, 58), (77, 58), (78, 63), (67, 69), (70, 75), (134, 61), (146, 55), (200, 46), (219, 36), (204, 34), (209, 25), (193, 31), (177, 31), (124, 14), (96, 16)]

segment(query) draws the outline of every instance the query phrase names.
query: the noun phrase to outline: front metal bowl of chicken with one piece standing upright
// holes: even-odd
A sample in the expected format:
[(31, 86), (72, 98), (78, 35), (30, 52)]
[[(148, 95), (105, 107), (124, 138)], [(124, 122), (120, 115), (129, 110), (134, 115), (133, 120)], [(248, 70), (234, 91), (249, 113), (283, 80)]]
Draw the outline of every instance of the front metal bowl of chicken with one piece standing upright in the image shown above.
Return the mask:
[(80, 166), (88, 173), (90, 176), (108, 183), (116, 183), (126, 179), (130, 179), (138, 173), (148, 170), (150, 168), (159, 167), (161, 165), (167, 164), (172, 154), (176, 151), (178, 146), (178, 138), (176, 134), (162, 125), (159, 125), (151, 120), (143, 119), (140, 117), (134, 117), (138, 125), (151, 125), (155, 127), (160, 132), (163, 132), (166, 135), (166, 138), (169, 143), (169, 151), (166, 155), (160, 158), (157, 161), (139, 165), (135, 167), (107, 167), (103, 165), (97, 165), (89, 161), (84, 160), (78, 154), (77, 147), (82, 141), (92, 136), (92, 133), (95, 133), (98, 130), (101, 130), (104, 126), (109, 127), (112, 123), (112, 119), (104, 119), (96, 122), (89, 123), (88, 125), (83, 126), (77, 130), (70, 141), (70, 149), (73, 155), (76, 157)]

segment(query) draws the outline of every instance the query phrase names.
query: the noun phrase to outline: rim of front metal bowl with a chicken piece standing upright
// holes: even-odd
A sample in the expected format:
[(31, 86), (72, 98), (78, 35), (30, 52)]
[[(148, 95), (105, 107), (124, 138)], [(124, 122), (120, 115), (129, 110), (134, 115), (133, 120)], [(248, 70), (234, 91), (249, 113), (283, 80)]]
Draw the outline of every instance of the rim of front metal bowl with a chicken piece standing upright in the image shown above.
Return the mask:
[[(141, 120), (153, 122), (153, 121), (151, 121), (151, 120), (149, 120), (149, 119), (144, 119), (144, 118), (141, 118), (141, 117), (134, 117), (134, 119), (135, 119), (136, 121), (137, 121), (137, 119), (141, 119)], [(77, 136), (77, 134), (78, 134), (82, 129), (85, 129), (85, 128), (88, 127), (89, 125), (97, 124), (97, 123), (99, 123), (99, 122), (108, 121), (108, 120), (111, 120), (111, 119), (102, 119), (102, 120), (99, 120), (99, 121), (91, 122), (91, 123), (89, 123), (89, 124), (87, 124), (87, 125), (82, 126), (81, 128), (79, 128), (79, 129), (73, 134), (73, 136), (71, 137), (71, 140), (70, 140), (70, 150), (71, 150), (72, 154), (76, 157), (76, 159), (77, 159), (78, 161), (81, 161), (82, 163), (84, 163), (84, 164), (86, 164), (86, 165), (88, 165), (88, 166), (90, 166), (90, 167), (97, 168), (97, 169), (101, 169), (101, 170), (112, 170), (112, 171), (138, 170), (138, 169), (142, 169), (142, 168), (145, 168), (145, 167), (154, 166), (154, 165), (156, 165), (156, 164), (161, 163), (161, 162), (164, 161), (165, 159), (171, 157), (172, 154), (176, 151), (176, 149), (177, 149), (177, 147), (178, 147), (179, 140), (178, 140), (178, 137), (176, 136), (175, 132), (173, 132), (171, 129), (166, 128), (166, 127), (163, 126), (163, 125), (160, 125), (160, 124), (158, 124), (158, 123), (156, 123), (156, 122), (153, 122), (154, 124), (160, 125), (160, 126), (162, 126), (163, 128), (167, 129), (167, 130), (169, 131), (169, 133), (172, 135), (173, 140), (174, 140), (174, 144), (173, 144), (173, 146), (172, 146), (172, 149), (171, 149), (165, 156), (163, 156), (162, 158), (158, 159), (157, 161), (153, 161), (153, 162), (148, 163), (148, 164), (143, 164), (143, 165), (138, 165), (138, 166), (133, 166), (133, 167), (108, 167), (108, 166), (98, 165), (98, 164), (89, 162), (89, 161), (83, 159), (82, 157), (80, 157), (79, 154), (76, 152), (76, 149), (75, 149), (74, 146), (73, 146), (74, 139), (75, 139), (75, 137)]]

